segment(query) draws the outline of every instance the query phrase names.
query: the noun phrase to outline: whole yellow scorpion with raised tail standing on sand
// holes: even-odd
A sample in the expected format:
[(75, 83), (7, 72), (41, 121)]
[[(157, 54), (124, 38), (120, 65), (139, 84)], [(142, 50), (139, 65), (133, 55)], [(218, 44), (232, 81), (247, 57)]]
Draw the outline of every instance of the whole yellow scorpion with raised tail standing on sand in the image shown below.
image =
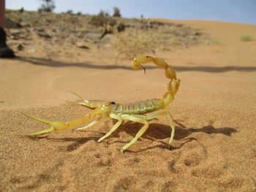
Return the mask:
[[(181, 80), (177, 79), (176, 71), (173, 69), (173, 67), (168, 65), (160, 58), (138, 55), (132, 61), (132, 69), (143, 68), (144, 72), (146, 72), (146, 69), (142, 64), (146, 64), (149, 62), (153, 62), (159, 68), (164, 68), (165, 77), (170, 79), (170, 82), (168, 82), (167, 85), (167, 93), (162, 96), (162, 99), (146, 99), (143, 101), (136, 101), (129, 104), (116, 104), (116, 102), (114, 101), (107, 102), (105, 104), (97, 104), (92, 101), (85, 100), (81, 96), (78, 96), (78, 94), (75, 94), (80, 99), (82, 99), (81, 101), (77, 102), (78, 104), (88, 107), (94, 111), (83, 116), (82, 118), (78, 118), (76, 120), (72, 120), (66, 123), (62, 121), (50, 121), (42, 118), (36, 118), (23, 112), (23, 115), (26, 115), (28, 118), (37, 120), (41, 123), (46, 123), (51, 126), (46, 130), (31, 133), (29, 134), (29, 137), (36, 137), (38, 135), (47, 134), (52, 131), (64, 131), (70, 128), (74, 128), (75, 126), (80, 126), (83, 123), (89, 122), (89, 120), (91, 119), (93, 119), (91, 123), (87, 124), (87, 126), (77, 128), (75, 131), (85, 131), (87, 128), (94, 126), (96, 123), (99, 122), (99, 120), (104, 117), (111, 118), (113, 122), (114, 120), (117, 120), (113, 127), (110, 128), (110, 131), (108, 131), (107, 134), (105, 134), (98, 140), (98, 142), (101, 142), (103, 139), (109, 137), (110, 134), (113, 133), (113, 131), (116, 131), (116, 129), (124, 122), (132, 121), (133, 123), (142, 123), (143, 126), (140, 128), (135, 137), (129, 143), (121, 147), (121, 153), (124, 153), (127, 148), (133, 145), (145, 133), (149, 126), (149, 120), (153, 120), (162, 116), (167, 116), (171, 128), (170, 139), (168, 143), (168, 148), (170, 149), (170, 144), (173, 142), (176, 123), (174, 122), (170, 111), (168, 111), (166, 108), (167, 105), (170, 104), (171, 101), (173, 101), (174, 96), (178, 91)], [(148, 114), (149, 112), (159, 110), (162, 111), (154, 114)]]

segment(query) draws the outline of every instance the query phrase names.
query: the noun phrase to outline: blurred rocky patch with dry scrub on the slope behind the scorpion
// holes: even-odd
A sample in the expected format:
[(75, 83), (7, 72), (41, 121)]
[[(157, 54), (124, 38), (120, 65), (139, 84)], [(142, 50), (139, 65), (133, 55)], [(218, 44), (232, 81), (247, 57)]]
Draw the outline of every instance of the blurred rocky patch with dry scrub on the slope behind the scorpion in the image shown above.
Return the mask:
[(7, 33), (10, 39), (22, 37), (33, 41), (36, 33), (44, 40), (48, 37), (47, 41), (54, 44), (66, 42), (77, 46), (77, 42), (88, 42), (98, 48), (106, 45), (117, 53), (117, 59), (132, 59), (138, 54), (154, 55), (173, 47), (184, 48), (206, 42), (200, 31), (176, 23), (114, 18), (104, 11), (98, 15), (70, 13), (48, 13), (42, 17), (37, 12), (10, 11), (7, 18), (22, 23), (23, 31), (17, 35), (17, 32), (7, 29)]

